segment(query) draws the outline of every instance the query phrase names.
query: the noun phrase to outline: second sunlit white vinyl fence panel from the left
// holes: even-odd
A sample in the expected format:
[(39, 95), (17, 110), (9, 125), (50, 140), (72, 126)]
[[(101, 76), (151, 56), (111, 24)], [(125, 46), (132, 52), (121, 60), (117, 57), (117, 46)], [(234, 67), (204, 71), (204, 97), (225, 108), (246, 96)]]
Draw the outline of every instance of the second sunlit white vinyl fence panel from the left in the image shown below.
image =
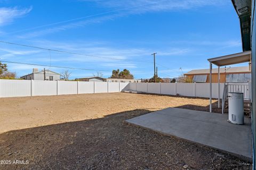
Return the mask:
[(32, 80), (32, 84), (32, 96), (57, 95), (57, 81)]

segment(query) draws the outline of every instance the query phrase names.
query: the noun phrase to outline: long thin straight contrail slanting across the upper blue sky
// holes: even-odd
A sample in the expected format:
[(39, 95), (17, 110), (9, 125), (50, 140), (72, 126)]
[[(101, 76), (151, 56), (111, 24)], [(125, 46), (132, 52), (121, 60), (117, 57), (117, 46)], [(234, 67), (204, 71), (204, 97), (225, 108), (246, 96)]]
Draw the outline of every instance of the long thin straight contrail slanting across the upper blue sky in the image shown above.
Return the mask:
[(70, 19), (70, 20), (65, 20), (65, 21), (59, 21), (59, 22), (54, 22), (54, 23), (50, 23), (50, 24), (39, 25), (39, 26), (33, 27), (33, 28), (27, 28), (27, 29), (23, 29), (23, 30), (18, 30), (18, 31), (10, 32), (9, 34), (11, 34), (11, 33), (17, 33), (17, 32), (22, 32), (22, 31), (33, 30), (33, 29), (42, 28), (42, 27), (47, 27), (47, 26), (52, 26), (52, 25), (57, 25), (57, 24), (61, 24), (61, 23), (71, 22), (71, 21), (82, 20), (82, 19), (86, 19), (86, 18), (91, 18), (91, 17), (93, 17), (93, 16), (108, 14), (108, 13), (112, 13), (112, 12), (118, 12), (118, 11), (123, 11), (123, 10), (129, 10), (129, 9), (131, 9), (131, 8), (137, 8), (137, 7), (141, 7), (141, 6), (157, 4), (157, 3), (160, 3), (160, 2), (164, 2), (164, 1), (169, 1), (169, 0), (162, 0), (162, 1), (157, 1), (157, 2), (153, 2), (153, 3), (142, 4), (142, 5), (138, 5), (138, 6), (125, 7), (125, 8), (120, 8), (120, 9), (117, 9), (117, 10), (111, 10), (111, 11), (102, 12), (102, 13), (98, 13), (98, 14), (87, 15), (87, 16), (83, 16), (83, 17), (79, 17), (79, 18)]

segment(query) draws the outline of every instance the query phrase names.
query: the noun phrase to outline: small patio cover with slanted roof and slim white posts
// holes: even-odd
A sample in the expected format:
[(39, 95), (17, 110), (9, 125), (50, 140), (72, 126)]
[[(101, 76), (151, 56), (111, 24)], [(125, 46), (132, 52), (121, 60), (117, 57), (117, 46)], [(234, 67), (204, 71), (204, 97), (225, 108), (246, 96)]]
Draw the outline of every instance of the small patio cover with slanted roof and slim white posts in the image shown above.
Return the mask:
[(220, 108), (220, 66), (250, 62), (251, 54), (251, 51), (247, 51), (208, 59), (210, 62), (210, 112), (212, 112), (212, 64), (218, 66), (218, 108)]

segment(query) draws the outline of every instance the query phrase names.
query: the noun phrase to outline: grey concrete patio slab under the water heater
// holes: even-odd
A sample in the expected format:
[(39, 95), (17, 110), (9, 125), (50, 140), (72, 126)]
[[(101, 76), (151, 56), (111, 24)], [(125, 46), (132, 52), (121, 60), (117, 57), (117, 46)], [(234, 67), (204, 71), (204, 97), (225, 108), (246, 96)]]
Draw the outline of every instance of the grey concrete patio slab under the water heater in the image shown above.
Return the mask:
[(227, 114), (167, 108), (126, 122), (251, 160), (251, 120), (245, 118), (244, 125), (231, 124), (227, 120)]

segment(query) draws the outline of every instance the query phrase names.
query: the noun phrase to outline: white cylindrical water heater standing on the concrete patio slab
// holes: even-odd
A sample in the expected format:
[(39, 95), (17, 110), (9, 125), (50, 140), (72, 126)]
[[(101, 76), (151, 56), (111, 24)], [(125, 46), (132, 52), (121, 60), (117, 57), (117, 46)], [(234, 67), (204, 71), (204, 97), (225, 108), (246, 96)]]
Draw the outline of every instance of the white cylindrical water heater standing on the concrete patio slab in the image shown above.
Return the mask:
[(244, 95), (242, 92), (228, 93), (228, 122), (244, 124)]

